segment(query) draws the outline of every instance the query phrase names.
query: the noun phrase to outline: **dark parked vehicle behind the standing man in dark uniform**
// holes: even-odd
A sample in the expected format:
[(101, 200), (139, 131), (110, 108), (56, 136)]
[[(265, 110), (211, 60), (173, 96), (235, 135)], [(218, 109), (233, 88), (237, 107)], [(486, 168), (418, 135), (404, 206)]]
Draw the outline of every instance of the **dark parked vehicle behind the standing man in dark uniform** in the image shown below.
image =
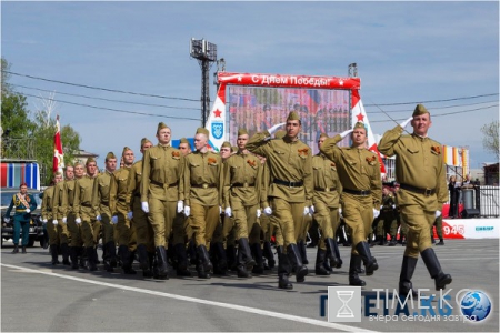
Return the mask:
[[(12, 196), (19, 193), (19, 189), (12, 189), (12, 188), (2, 188), (1, 192), (1, 215), (2, 215), (2, 243), (3, 246), (3, 240), (10, 240), (13, 238), (13, 211), (11, 211), (10, 221), (6, 222), (3, 221), (3, 218), (6, 216), (7, 209), (9, 208), (10, 201), (12, 200)], [(43, 248), (46, 241), (46, 238), (43, 236), (43, 223), (41, 222), (41, 202), (42, 202), (42, 192), (38, 190), (28, 190), (28, 193), (32, 194), (34, 196), (34, 200), (37, 201), (37, 209), (31, 213), (31, 221), (30, 221), (30, 239), (28, 242), (28, 246), (33, 246), (34, 242), (40, 242), (40, 246)], [(22, 234), (22, 230), (21, 230)]]

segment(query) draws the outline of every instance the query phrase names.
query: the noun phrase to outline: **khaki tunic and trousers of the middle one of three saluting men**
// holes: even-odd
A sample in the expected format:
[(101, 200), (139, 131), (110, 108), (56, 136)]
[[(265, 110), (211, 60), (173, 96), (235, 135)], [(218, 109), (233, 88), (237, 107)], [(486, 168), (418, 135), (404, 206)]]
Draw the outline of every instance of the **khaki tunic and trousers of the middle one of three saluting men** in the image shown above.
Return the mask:
[(352, 253), (358, 254), (356, 245), (364, 242), (371, 232), (373, 209), (380, 209), (382, 199), (380, 164), (377, 155), (364, 148), (337, 147), (341, 140), (342, 137), (339, 134), (328, 138), (320, 150), (336, 163), (342, 184), (340, 196), (342, 215), (351, 230)]

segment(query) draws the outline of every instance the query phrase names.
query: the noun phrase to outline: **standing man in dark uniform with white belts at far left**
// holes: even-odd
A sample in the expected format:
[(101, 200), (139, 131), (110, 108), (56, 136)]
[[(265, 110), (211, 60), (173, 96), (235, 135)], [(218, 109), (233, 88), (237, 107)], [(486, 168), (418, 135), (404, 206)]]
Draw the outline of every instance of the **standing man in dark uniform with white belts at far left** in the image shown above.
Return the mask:
[(37, 201), (32, 194), (28, 194), (27, 183), (22, 183), (19, 186), (19, 193), (12, 196), (9, 208), (6, 211), (3, 221), (10, 221), (10, 212), (16, 209), (13, 215), (13, 244), (14, 249), (12, 253), (19, 253), (19, 238), (22, 229), (22, 253), (26, 253), (26, 246), (30, 240), (30, 222), (31, 222), (31, 211), (37, 209)]

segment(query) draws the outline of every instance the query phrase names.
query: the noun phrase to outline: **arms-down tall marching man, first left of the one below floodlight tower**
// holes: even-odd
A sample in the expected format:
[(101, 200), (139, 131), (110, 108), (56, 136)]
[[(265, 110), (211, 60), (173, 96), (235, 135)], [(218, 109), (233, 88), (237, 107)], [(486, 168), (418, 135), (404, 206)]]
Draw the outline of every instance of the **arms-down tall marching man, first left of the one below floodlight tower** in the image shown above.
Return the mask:
[(171, 135), (170, 128), (160, 122), (158, 145), (148, 149), (142, 158), (141, 205), (154, 233), (159, 279), (169, 279), (168, 240), (176, 213), (183, 210), (179, 186), (183, 157), (170, 145)]

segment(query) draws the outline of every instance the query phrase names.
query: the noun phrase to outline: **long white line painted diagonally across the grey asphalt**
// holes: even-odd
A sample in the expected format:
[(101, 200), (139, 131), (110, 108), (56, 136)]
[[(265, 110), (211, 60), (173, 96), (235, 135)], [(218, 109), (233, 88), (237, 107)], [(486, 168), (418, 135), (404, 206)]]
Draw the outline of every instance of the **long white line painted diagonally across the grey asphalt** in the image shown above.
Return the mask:
[(253, 309), (253, 307), (249, 307), (249, 306), (241, 306), (241, 305), (236, 305), (236, 304), (228, 304), (228, 303), (222, 303), (222, 302), (213, 302), (213, 301), (200, 300), (200, 299), (194, 299), (194, 297), (181, 296), (181, 295), (157, 292), (157, 291), (147, 290), (147, 289), (120, 285), (120, 284), (114, 284), (114, 283), (107, 283), (107, 282), (102, 282), (102, 281), (94, 281), (94, 280), (89, 280), (89, 279), (83, 279), (83, 278), (76, 278), (76, 276), (63, 275), (63, 274), (58, 274), (58, 273), (52, 273), (52, 272), (47, 272), (47, 271), (41, 271), (41, 270), (27, 269), (27, 268), (16, 266), (16, 265), (11, 265), (11, 264), (0, 263), (0, 265), (2, 265), (4, 268), (13, 269), (13, 270), (23, 271), (23, 272), (39, 273), (39, 274), (44, 274), (44, 275), (50, 275), (50, 276), (56, 276), (56, 278), (62, 278), (62, 279), (67, 279), (67, 280), (79, 281), (79, 282), (83, 282), (83, 283), (90, 283), (90, 284), (96, 284), (96, 285), (101, 285), (101, 286), (132, 291), (132, 292), (137, 292), (137, 293), (143, 293), (143, 294), (150, 294), (150, 295), (173, 299), (173, 300), (179, 300), (179, 301), (219, 306), (219, 307), (237, 310), (237, 311), (247, 312), (247, 313), (253, 313), (253, 314), (259, 314), (259, 315), (277, 317), (277, 319), (281, 319), (281, 320), (299, 322), (302, 324), (310, 324), (310, 325), (314, 325), (314, 326), (342, 330), (342, 331), (347, 331), (347, 332), (377, 332), (377, 331), (364, 330), (361, 327), (348, 326), (348, 325), (338, 324), (338, 323), (329, 323), (327, 321), (319, 321), (319, 320), (292, 315), (292, 314), (286, 314), (286, 313), (279, 313), (279, 312), (267, 311), (267, 310), (261, 310), (261, 309)]

